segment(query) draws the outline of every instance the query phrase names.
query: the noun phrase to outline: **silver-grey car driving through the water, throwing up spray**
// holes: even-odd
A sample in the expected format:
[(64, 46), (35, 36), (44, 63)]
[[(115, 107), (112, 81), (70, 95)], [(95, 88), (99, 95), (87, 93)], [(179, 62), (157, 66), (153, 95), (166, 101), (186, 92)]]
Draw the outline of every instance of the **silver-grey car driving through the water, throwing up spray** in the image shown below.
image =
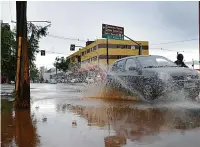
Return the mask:
[(173, 61), (156, 55), (117, 60), (106, 81), (118, 90), (139, 92), (149, 102), (177, 90), (184, 90), (192, 100), (200, 93), (200, 75), (196, 70), (178, 67)]

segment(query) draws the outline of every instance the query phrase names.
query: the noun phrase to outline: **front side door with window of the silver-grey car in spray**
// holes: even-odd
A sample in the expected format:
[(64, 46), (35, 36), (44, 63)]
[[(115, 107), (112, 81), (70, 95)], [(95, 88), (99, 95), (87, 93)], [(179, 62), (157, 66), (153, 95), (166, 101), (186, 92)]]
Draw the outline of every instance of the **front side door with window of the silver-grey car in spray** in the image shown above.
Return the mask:
[(139, 66), (135, 59), (128, 58), (125, 62), (125, 71), (123, 76), (124, 81), (129, 90), (138, 90), (139, 82), (140, 82), (140, 72), (138, 71)]

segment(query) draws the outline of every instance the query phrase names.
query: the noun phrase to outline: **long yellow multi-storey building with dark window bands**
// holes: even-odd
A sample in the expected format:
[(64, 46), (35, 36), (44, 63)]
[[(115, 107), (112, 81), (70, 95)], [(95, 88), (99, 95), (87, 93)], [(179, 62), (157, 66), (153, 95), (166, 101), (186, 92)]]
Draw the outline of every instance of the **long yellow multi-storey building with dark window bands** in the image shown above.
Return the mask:
[[(148, 41), (137, 41), (142, 44), (142, 54), (149, 55), (149, 43)], [(85, 65), (93, 64), (107, 65), (107, 40), (98, 39), (94, 42), (86, 43), (87, 46), (80, 49), (79, 51), (68, 56), (67, 59), (73, 63), (80, 63), (81, 67)], [(109, 65), (114, 61), (139, 54), (139, 46), (130, 40), (108, 40), (108, 54), (109, 54)]]

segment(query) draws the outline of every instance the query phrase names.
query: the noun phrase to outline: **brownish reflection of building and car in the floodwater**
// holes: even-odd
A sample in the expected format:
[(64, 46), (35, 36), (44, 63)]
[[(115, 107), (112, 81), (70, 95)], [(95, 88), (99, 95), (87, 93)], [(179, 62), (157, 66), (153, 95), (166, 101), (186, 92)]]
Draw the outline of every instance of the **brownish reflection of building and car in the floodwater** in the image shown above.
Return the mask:
[(127, 139), (142, 142), (146, 136), (172, 131), (178, 131), (182, 134), (189, 129), (200, 127), (199, 109), (96, 108), (71, 105), (68, 105), (67, 109), (85, 118), (88, 121), (88, 126), (113, 129), (116, 136), (104, 138), (106, 147), (122, 146), (126, 144)]

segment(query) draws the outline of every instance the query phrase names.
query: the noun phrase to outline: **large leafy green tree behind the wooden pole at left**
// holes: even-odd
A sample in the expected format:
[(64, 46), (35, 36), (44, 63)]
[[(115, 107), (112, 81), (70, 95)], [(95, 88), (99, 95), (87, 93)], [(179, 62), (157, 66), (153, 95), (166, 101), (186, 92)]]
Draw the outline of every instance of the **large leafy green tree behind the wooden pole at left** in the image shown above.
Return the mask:
[[(47, 35), (48, 27), (27, 24), (29, 65), (34, 66), (36, 54), (39, 53), (39, 41)], [(1, 26), (1, 69), (2, 75), (9, 81), (15, 81), (16, 74), (16, 29), (12, 31), (6, 26)]]

